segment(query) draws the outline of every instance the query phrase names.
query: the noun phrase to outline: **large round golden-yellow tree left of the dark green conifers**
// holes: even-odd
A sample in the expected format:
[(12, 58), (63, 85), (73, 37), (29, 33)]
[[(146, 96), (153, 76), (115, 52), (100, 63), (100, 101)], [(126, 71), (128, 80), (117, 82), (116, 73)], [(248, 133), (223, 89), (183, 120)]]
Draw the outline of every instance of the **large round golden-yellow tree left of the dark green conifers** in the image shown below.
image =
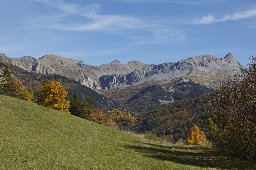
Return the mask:
[(41, 88), (42, 92), (38, 101), (39, 105), (70, 114), (68, 110), (69, 100), (67, 100), (68, 92), (60, 85), (60, 82), (50, 82), (45, 79)]

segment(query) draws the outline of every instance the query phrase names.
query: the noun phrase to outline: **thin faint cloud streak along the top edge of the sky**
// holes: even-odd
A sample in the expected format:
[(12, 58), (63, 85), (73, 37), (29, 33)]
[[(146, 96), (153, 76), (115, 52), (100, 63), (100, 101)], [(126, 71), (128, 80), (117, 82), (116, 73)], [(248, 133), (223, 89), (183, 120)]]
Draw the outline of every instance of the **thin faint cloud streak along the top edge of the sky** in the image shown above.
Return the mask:
[(176, 3), (184, 5), (202, 5), (209, 2), (219, 3), (227, 0), (111, 0), (127, 3)]

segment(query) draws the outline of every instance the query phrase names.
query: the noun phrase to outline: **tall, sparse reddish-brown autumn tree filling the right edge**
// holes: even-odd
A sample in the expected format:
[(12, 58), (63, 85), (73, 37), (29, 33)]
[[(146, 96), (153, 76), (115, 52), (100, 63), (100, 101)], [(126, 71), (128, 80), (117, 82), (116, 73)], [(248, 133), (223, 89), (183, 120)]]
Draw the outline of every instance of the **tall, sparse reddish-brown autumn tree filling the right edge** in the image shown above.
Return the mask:
[(206, 121), (212, 141), (237, 157), (255, 161), (256, 58), (245, 70), (215, 84)]

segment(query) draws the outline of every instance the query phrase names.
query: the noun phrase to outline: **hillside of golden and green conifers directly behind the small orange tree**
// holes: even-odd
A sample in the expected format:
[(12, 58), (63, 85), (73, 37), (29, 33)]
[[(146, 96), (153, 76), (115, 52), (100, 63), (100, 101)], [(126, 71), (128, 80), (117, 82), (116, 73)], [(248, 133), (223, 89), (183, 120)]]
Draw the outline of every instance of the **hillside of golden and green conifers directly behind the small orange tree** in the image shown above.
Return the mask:
[(166, 135), (174, 141), (180, 138), (185, 140), (193, 124), (203, 129), (204, 112), (209, 109), (207, 102), (206, 96), (202, 95), (165, 104), (143, 113), (133, 130)]

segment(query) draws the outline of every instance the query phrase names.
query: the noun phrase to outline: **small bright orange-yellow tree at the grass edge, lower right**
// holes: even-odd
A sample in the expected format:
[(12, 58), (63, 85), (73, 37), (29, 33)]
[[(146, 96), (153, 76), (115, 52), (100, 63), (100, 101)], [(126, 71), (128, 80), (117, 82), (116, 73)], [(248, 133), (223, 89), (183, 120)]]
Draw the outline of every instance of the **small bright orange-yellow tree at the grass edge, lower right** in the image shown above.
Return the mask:
[(210, 141), (208, 141), (205, 137), (205, 134), (203, 131), (201, 131), (199, 128), (194, 124), (193, 128), (190, 128), (190, 132), (188, 134), (188, 139), (185, 142), (187, 145), (207, 145), (211, 144)]

